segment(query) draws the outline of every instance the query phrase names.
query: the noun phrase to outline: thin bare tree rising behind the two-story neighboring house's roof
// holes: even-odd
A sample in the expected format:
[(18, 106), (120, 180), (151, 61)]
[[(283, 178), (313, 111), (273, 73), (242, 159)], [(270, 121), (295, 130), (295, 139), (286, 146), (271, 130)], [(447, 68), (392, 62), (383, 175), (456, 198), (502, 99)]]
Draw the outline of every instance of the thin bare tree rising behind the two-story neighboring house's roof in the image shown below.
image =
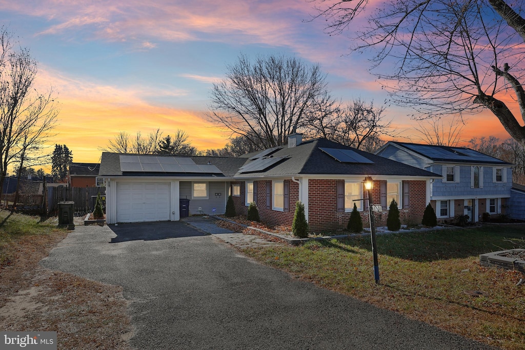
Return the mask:
[(429, 145), (457, 146), (463, 140), (463, 127), (465, 121), (459, 116), (453, 115), (452, 118), (435, 117), (429, 119), (419, 119), (414, 126), (416, 140)]

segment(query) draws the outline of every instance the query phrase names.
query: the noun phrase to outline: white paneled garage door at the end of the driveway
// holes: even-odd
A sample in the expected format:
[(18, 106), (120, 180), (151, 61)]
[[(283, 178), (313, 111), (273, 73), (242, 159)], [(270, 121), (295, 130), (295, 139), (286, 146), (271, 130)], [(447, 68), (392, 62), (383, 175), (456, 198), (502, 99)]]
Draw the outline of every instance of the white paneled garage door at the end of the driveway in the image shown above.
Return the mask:
[(117, 183), (117, 222), (170, 220), (170, 183)]

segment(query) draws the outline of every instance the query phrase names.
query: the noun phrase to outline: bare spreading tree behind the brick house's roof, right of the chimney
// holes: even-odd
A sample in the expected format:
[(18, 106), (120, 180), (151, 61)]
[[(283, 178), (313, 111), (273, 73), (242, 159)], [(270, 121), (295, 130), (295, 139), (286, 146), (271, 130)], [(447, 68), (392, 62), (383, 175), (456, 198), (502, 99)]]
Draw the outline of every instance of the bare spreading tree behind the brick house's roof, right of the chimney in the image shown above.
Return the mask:
[(385, 107), (376, 108), (373, 101), (356, 99), (345, 107), (331, 104), (319, 111), (309, 119), (307, 130), (311, 137), (319, 135), (362, 150), (368, 139), (376, 142), (382, 135), (396, 134), (391, 121), (384, 121)]

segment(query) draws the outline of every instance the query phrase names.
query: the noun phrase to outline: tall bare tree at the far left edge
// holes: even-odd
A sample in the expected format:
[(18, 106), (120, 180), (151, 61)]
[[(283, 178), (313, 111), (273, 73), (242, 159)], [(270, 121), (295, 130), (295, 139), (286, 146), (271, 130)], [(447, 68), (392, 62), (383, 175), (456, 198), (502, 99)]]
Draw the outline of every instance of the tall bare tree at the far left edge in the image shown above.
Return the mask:
[(34, 89), (37, 62), (28, 49), (14, 49), (12, 35), (0, 28), (0, 194), (7, 167), (23, 168), (27, 157), (40, 151), (54, 128), (58, 109), (53, 92)]

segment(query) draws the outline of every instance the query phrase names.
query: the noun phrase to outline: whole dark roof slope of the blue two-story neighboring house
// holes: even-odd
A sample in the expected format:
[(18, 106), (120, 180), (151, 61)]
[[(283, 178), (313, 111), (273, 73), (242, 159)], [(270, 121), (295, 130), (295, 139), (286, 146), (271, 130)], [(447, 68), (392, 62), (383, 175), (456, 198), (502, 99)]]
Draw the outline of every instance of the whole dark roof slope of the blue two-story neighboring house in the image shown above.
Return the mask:
[(466, 147), (425, 145), (419, 143), (396, 141), (391, 141), (391, 143), (404, 147), (405, 149), (408, 149), (436, 162), (511, 165), (511, 163), (502, 161), (498, 158), (491, 157), (478, 151), (468, 149)]

